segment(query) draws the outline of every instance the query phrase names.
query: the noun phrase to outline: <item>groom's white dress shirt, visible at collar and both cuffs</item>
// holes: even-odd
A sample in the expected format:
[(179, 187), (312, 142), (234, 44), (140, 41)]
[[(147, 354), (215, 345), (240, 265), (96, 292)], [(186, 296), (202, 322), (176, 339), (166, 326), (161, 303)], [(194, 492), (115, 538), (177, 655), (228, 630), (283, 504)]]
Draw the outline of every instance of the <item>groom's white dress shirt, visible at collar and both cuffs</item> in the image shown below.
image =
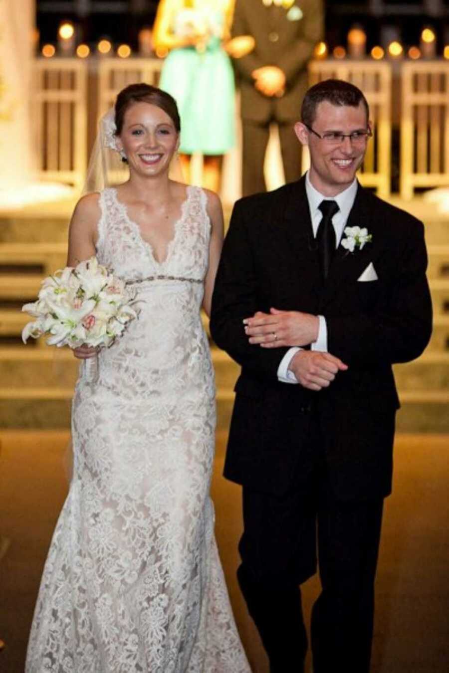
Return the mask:
[[(357, 180), (354, 178), (353, 182), (347, 187), (343, 192), (340, 192), (335, 197), (325, 197), (323, 194), (320, 194), (317, 189), (314, 188), (309, 179), (308, 172), (306, 173), (306, 195), (309, 204), (310, 210), (310, 219), (312, 221), (312, 231), (314, 238), (316, 238), (316, 232), (318, 232), (318, 225), (322, 219), (322, 212), (318, 208), (320, 203), (324, 201), (337, 201), (339, 211), (335, 213), (332, 218), (333, 227), (335, 229), (335, 242), (336, 247), (338, 248), (340, 244), (340, 239), (343, 236), (343, 230), (345, 229), (349, 213), (354, 204), (355, 194), (357, 194)], [(299, 223), (298, 223), (299, 226)], [(312, 351), (324, 351), (327, 352), (327, 325), (324, 316), (318, 316), (320, 325), (318, 328), (318, 337), (314, 343), (310, 345)], [(300, 351), (300, 347), (292, 347), (285, 353), (281, 363), (277, 369), (277, 378), (283, 383), (298, 383), (296, 376), (293, 374), (293, 371), (289, 370), (289, 364), (295, 353)]]

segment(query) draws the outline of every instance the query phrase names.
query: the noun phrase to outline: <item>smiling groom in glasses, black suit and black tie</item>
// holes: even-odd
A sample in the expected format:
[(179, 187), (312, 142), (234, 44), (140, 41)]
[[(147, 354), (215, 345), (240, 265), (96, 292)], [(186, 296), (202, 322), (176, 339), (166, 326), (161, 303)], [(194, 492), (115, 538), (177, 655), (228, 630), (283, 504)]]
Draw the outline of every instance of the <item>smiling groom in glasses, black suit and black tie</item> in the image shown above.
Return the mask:
[(355, 178), (371, 136), (357, 87), (310, 88), (295, 132), (310, 170), (236, 203), (213, 295), (213, 339), (242, 365), (225, 465), (243, 485), (238, 579), (271, 673), (300, 673), (318, 551), (314, 673), (368, 673), (391, 365), (431, 333), (423, 225)]

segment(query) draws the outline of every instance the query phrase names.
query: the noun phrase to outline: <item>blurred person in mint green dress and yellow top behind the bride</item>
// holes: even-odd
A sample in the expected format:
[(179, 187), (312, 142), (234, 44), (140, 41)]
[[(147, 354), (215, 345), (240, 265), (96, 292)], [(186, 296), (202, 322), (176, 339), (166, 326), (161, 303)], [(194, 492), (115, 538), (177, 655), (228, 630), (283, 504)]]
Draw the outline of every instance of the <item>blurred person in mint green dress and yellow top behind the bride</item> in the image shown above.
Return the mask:
[(234, 73), (223, 41), (234, 0), (162, 0), (154, 26), (158, 52), (168, 50), (160, 87), (180, 111), (182, 166), (203, 154), (203, 186), (218, 191), (221, 162), (235, 144)]

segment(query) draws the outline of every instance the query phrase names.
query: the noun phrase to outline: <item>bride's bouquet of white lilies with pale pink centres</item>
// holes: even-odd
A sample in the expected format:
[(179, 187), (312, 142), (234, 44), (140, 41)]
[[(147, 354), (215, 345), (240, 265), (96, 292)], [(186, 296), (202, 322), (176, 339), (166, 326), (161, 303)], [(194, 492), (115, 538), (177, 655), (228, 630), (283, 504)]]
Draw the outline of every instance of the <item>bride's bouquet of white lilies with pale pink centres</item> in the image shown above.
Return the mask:
[[(91, 257), (42, 281), (37, 302), (22, 306), (22, 311), (36, 318), (22, 330), (22, 341), (44, 335), (50, 346), (109, 347), (137, 318), (131, 306), (134, 297), (125, 281)], [(97, 369), (96, 357), (85, 361), (88, 380), (96, 380)]]

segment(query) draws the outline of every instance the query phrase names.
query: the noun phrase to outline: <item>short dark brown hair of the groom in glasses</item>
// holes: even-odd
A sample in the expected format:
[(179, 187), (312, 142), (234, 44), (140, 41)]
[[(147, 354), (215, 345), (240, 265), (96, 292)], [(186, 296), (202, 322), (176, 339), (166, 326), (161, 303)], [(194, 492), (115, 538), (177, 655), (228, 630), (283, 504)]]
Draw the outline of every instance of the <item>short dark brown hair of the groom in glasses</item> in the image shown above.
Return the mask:
[(348, 105), (357, 108), (360, 103), (366, 109), (366, 120), (370, 117), (370, 108), (362, 92), (353, 84), (343, 79), (324, 79), (310, 87), (304, 96), (301, 107), (301, 121), (312, 126), (315, 120), (316, 108), (324, 100), (332, 105)]

